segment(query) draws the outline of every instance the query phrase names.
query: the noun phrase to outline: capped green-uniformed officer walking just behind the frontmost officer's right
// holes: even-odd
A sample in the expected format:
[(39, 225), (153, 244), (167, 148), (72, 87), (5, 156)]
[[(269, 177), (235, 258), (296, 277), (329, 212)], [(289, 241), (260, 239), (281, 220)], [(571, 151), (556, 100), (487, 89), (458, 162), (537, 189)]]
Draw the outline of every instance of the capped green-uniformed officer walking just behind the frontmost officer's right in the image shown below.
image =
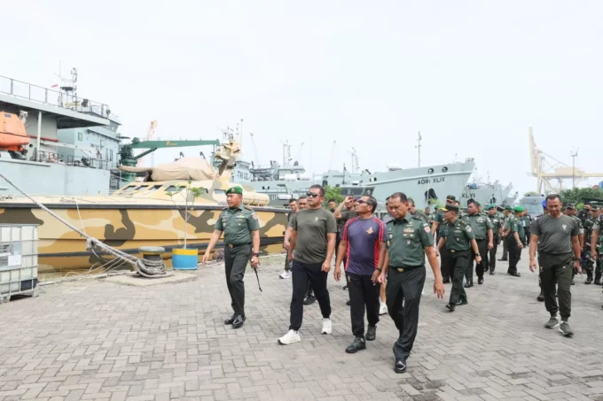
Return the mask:
[(454, 312), (456, 305), (466, 305), (467, 295), (463, 288), (463, 276), (466, 266), (471, 258), (471, 250), (474, 251), (475, 261), (482, 262), (480, 250), (475, 242), (474, 231), (465, 221), (458, 219), (458, 206), (456, 204), (447, 204), (440, 210), (444, 212), (446, 222), (442, 226), (442, 236), (437, 244), (438, 250), (445, 245), (450, 252), (450, 269), (452, 274), (452, 291), (450, 292), (450, 301), (446, 307), (450, 312)]

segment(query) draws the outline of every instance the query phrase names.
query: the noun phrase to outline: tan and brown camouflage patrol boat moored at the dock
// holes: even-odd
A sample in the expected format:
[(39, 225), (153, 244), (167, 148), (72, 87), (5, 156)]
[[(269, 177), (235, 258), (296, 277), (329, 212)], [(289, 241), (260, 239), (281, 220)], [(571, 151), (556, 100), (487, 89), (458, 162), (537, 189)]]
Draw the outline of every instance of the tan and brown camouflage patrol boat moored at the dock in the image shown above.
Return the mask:
[[(147, 179), (131, 182), (113, 195), (59, 197), (34, 197), (74, 227), (81, 227), (87, 235), (101, 240), (121, 251), (137, 255), (145, 245), (161, 246), (165, 256), (184, 247), (184, 230), (187, 249), (197, 249), (200, 255), (207, 248), (214, 231), (215, 220), (226, 204), (226, 189), (231, 169), (239, 153), (238, 143), (226, 143), (216, 157), (223, 166), (213, 170), (204, 160), (181, 159), (176, 163), (147, 168)], [(205, 165), (199, 165), (199, 164)], [(139, 172), (145, 167), (123, 167), (124, 171)], [(158, 178), (174, 178), (157, 180)], [(43, 177), (39, 177), (43, 180)], [(238, 185), (238, 184), (234, 184)], [(243, 203), (254, 207), (260, 220), (261, 251), (282, 251), (286, 230), (286, 210), (268, 206), (269, 198), (256, 193), (246, 185)], [(199, 197), (189, 199), (188, 224), (184, 227), (186, 187), (196, 188)], [(56, 272), (64, 269), (90, 268), (111, 260), (98, 251), (87, 251), (86, 241), (59, 220), (26, 197), (0, 197), (0, 224), (37, 224), (39, 271)], [(168, 266), (171, 260), (167, 260)]]

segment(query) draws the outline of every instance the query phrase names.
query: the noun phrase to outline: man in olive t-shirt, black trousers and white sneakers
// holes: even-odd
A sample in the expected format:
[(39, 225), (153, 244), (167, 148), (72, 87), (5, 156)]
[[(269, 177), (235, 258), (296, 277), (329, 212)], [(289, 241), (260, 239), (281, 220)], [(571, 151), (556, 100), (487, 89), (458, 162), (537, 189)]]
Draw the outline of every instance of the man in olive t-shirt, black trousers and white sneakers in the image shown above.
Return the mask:
[(303, 319), (303, 297), (311, 282), (323, 315), (323, 334), (331, 334), (331, 301), (326, 280), (331, 270), (335, 251), (337, 223), (332, 212), (322, 207), (325, 188), (313, 185), (309, 188), (308, 208), (294, 214), (289, 254), (293, 258), (293, 295), (289, 331), (278, 343), (291, 344), (301, 340), (299, 329)]

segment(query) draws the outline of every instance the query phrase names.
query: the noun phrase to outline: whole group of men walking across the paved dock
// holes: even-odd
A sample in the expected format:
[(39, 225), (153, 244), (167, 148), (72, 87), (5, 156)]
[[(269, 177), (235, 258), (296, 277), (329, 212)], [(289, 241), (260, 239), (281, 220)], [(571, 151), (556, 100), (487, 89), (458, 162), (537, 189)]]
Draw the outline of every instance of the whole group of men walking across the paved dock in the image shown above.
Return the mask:
[[(253, 268), (259, 265), (259, 221), (253, 209), (242, 204), (242, 189), (232, 187), (226, 193), (228, 207), (216, 220), (203, 261), (224, 235), (225, 274), (234, 312), (224, 324), (240, 328), (247, 320), (245, 268), (248, 262)], [(482, 206), (474, 199), (469, 199), (465, 212), (458, 200), (449, 196), (446, 204), (430, 213), (428, 208), (419, 211), (412, 199), (396, 192), (387, 198), (387, 215), (379, 219), (374, 197), (348, 197), (338, 206), (332, 200), (325, 202), (325, 189), (314, 185), (289, 204), (286, 270), (280, 278), (291, 277), (293, 291), (289, 329), (278, 343), (301, 341), (303, 307), (315, 301), (323, 317), (321, 334), (332, 333), (327, 278), (335, 257), (333, 277), (340, 281), (344, 266), (355, 337), (346, 352), (364, 350), (366, 341), (375, 340), (380, 315), (388, 313), (399, 330), (394, 370), (403, 373), (417, 335), (426, 258), (434, 273), (437, 297), (444, 296), (443, 284), (452, 282), (446, 309), (454, 312), (457, 306), (468, 304), (466, 289), (474, 287), (474, 273), (478, 285), (484, 283), (484, 274), (495, 274), (500, 243), (504, 255), (499, 260), (508, 260), (506, 273), (512, 277), (521, 276), (517, 265), (529, 245), (529, 268), (532, 272), (538, 268), (541, 279), (538, 299), (551, 314), (544, 327), (573, 335), (568, 325), (573, 272), (584, 270), (586, 284), (593, 282), (593, 275), (594, 283), (601, 284), (603, 216), (598, 204), (586, 205), (580, 217), (573, 204), (563, 213), (561, 205), (558, 195), (550, 195), (543, 202), (543, 214), (532, 220), (522, 206)]]

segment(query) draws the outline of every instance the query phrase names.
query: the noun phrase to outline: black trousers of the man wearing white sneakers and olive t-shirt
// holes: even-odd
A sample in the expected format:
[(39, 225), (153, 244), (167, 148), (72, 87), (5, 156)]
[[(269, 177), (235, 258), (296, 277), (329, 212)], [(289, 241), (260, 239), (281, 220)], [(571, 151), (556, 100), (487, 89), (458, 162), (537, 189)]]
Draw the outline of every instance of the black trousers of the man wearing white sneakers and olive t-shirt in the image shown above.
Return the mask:
[(297, 331), (302, 327), (303, 298), (308, 289), (309, 282), (312, 283), (314, 295), (317, 297), (323, 318), (331, 316), (331, 299), (329, 298), (329, 290), (326, 289), (326, 279), (329, 274), (321, 270), (322, 266), (322, 263), (309, 264), (294, 259), (294, 266), (291, 268), (294, 291), (291, 297), (289, 329)]

